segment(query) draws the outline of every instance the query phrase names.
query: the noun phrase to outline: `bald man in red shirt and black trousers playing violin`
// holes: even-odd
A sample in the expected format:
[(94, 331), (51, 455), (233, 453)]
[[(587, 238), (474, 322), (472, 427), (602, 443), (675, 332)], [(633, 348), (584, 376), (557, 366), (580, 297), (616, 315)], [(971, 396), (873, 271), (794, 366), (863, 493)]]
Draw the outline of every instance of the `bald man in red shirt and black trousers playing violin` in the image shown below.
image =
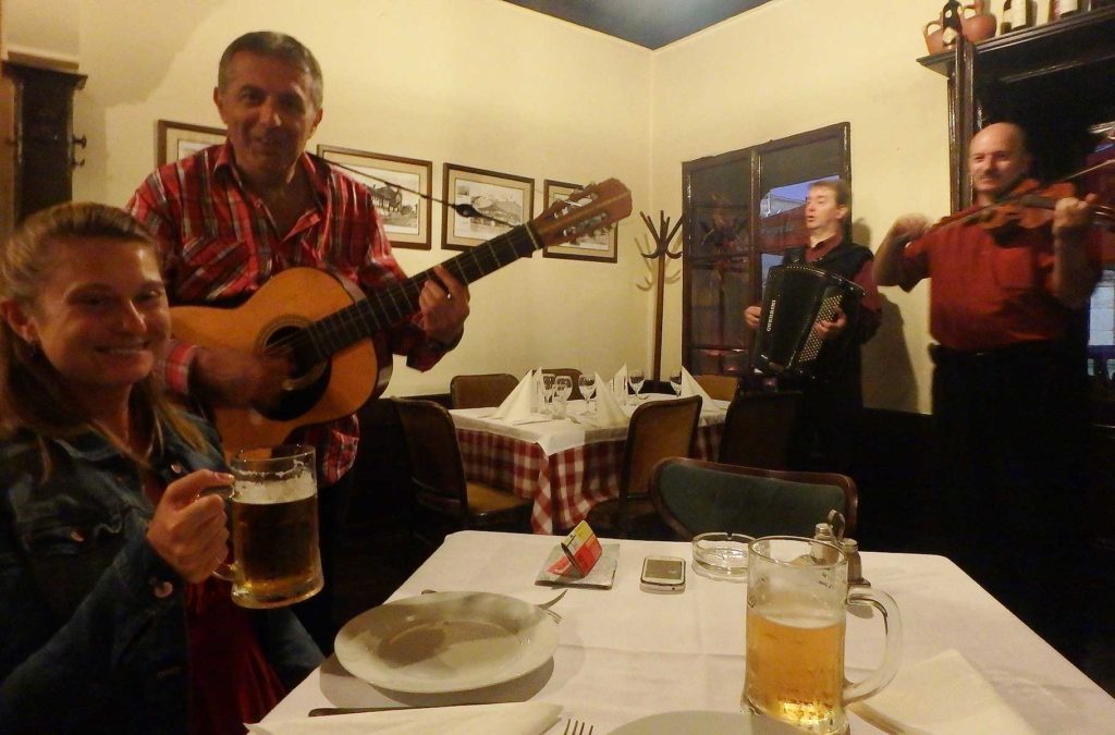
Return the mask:
[(1073, 606), (1055, 598), (1079, 587), (1085, 307), (1102, 267), (1094, 196), (1060, 197), (1051, 215), (1017, 206), (1014, 193), (1035, 185), (1030, 163), (1019, 126), (978, 132), (968, 161), (973, 206), (932, 228), (921, 215), (900, 216), (874, 274), (880, 286), (906, 291), (932, 281), (942, 473), (933, 504), (943, 536), (957, 541), (942, 551), (1064, 652), (1073, 645), (1064, 637)]

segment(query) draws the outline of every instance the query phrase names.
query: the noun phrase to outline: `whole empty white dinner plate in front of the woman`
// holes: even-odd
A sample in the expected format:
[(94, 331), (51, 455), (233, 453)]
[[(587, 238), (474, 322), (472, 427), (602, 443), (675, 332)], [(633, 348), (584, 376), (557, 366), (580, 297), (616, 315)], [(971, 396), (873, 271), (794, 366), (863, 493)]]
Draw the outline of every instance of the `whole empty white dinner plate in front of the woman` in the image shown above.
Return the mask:
[(503, 684), (539, 668), (558, 648), (558, 626), (534, 605), (491, 592), (434, 592), (349, 620), (337, 660), (394, 692), (442, 694)]

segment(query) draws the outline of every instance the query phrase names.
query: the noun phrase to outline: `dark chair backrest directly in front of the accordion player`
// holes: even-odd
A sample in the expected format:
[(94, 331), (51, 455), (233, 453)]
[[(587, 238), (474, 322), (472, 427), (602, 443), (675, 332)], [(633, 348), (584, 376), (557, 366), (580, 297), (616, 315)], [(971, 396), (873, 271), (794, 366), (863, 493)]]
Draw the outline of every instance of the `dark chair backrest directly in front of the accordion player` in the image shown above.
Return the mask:
[(720, 438), (721, 464), (785, 470), (796, 437), (802, 394), (740, 394), (728, 406)]

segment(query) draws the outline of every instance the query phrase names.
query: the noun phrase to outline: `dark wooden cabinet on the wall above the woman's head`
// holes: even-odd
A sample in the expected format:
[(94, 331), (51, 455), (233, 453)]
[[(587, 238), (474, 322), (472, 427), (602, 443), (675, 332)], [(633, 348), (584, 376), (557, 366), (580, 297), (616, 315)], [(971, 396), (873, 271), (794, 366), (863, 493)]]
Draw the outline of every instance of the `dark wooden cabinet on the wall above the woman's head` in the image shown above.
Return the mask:
[(74, 93), (86, 77), (68, 71), (6, 64), (14, 96), (14, 190), (17, 222), (74, 196), (72, 172), (80, 165), (74, 135)]

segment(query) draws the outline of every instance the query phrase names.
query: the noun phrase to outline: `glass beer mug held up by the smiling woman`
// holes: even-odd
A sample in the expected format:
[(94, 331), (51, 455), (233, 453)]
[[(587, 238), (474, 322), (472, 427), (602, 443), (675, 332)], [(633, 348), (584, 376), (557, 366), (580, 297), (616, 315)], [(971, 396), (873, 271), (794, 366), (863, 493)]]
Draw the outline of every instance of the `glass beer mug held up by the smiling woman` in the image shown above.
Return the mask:
[(245, 608), (277, 608), (321, 591), (313, 447), (241, 449), (226, 495), (232, 559), (214, 572)]

